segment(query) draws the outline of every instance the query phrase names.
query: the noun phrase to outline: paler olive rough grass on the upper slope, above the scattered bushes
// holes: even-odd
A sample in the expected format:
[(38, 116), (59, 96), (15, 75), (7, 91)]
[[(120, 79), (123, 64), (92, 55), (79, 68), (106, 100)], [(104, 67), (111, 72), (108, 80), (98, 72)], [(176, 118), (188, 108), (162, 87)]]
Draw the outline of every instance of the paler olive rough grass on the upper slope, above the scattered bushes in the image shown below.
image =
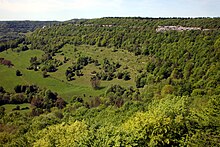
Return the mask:
[[(76, 48), (76, 51), (74, 49)], [(119, 62), (122, 66), (120, 67), (119, 71), (128, 71), (131, 73), (131, 81), (130, 83), (125, 82), (126, 84), (134, 85), (135, 76), (137, 74), (137, 69), (144, 67), (144, 61), (147, 60), (146, 57), (137, 57), (133, 53), (130, 53), (126, 50), (118, 49), (116, 52), (113, 52), (112, 48), (98, 48), (95, 46), (73, 46), (73, 45), (65, 45), (62, 49), (62, 53), (64, 55), (61, 55), (59, 53), (57, 55), (57, 58), (63, 59), (64, 56), (68, 57), (70, 59), (69, 63), (75, 62), (77, 57), (80, 55), (90, 56), (93, 59), (96, 59), (99, 61), (99, 63), (103, 63), (104, 58), (107, 58), (111, 62)], [(61, 57), (63, 56), (63, 57)], [(90, 66), (91, 68), (86, 67), (88, 71), (96, 70), (98, 71), (97, 67)], [(127, 67), (127, 69), (125, 69)], [(116, 80), (117, 81), (117, 80)], [(124, 81), (119, 80), (119, 83), (115, 84), (121, 84)]]

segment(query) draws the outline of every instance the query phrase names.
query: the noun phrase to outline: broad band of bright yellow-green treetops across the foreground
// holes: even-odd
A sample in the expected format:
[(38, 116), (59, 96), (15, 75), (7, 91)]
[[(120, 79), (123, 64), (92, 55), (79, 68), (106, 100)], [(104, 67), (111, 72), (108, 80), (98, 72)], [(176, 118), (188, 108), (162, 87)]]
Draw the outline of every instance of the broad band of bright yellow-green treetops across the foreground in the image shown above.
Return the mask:
[[(219, 108), (219, 98), (212, 97), (209, 106), (199, 111), (190, 106), (192, 102), (189, 97), (166, 97), (151, 103), (147, 111), (141, 103), (126, 103), (118, 110), (101, 105), (92, 109), (79, 107), (64, 114), (72, 114), (68, 123), (52, 122), (53, 125), (45, 129), (44, 125), (40, 127), (40, 131), (33, 136), (33, 145), (218, 146), (220, 124), (216, 108)], [(134, 114), (140, 108), (144, 111)], [(120, 118), (122, 114), (124, 117)], [(36, 118), (38, 121), (34, 119), (35, 125), (50, 123), (47, 119), (43, 121), (44, 117)], [(51, 115), (47, 117), (57, 120)], [(82, 119), (84, 121), (78, 121)]]

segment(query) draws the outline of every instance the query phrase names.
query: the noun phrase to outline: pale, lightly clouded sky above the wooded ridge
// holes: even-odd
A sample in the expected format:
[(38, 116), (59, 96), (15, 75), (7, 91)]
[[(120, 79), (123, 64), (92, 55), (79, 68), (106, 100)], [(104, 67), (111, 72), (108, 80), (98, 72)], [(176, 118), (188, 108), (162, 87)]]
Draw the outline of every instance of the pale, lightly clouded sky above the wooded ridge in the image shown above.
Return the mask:
[(220, 0), (0, 0), (0, 20), (219, 17)]

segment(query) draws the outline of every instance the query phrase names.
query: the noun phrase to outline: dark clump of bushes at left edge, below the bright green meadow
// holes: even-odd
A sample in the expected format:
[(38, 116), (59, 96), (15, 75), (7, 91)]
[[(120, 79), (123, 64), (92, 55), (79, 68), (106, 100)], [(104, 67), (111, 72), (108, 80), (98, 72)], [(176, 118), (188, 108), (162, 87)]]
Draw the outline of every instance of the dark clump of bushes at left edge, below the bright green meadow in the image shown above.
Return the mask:
[[(33, 106), (34, 115), (39, 115), (44, 110), (50, 111), (52, 107), (62, 109), (67, 104), (57, 93), (40, 89), (36, 85), (17, 85), (14, 90), (15, 93), (9, 93), (0, 87), (1, 105), (30, 103)], [(40, 112), (36, 113), (36, 110)]]

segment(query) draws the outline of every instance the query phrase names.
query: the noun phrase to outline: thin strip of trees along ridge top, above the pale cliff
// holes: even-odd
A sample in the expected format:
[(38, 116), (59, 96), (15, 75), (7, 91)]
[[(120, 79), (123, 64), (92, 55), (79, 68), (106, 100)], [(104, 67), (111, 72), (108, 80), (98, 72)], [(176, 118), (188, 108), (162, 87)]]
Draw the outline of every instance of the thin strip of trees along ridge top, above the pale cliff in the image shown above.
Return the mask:
[[(133, 23), (131, 23), (133, 25), (135, 25), (135, 23), (142, 23), (143, 26), (146, 26), (146, 24), (149, 25), (150, 23), (161, 25), (161, 26), (182, 25), (182, 26), (187, 26), (187, 27), (202, 27), (202, 28), (207, 28), (207, 29), (211, 29), (211, 28), (219, 29), (219, 26), (220, 26), (219, 17), (214, 17), (214, 18), (210, 18), (210, 17), (198, 17), (198, 18), (105, 17), (102, 19), (91, 19), (89, 20), (89, 23), (92, 23), (92, 24), (111, 24), (112, 23), (112, 24), (116, 24), (120, 26), (129, 26), (131, 21), (133, 21)], [(129, 24), (126, 24), (126, 22), (129, 22)]]

